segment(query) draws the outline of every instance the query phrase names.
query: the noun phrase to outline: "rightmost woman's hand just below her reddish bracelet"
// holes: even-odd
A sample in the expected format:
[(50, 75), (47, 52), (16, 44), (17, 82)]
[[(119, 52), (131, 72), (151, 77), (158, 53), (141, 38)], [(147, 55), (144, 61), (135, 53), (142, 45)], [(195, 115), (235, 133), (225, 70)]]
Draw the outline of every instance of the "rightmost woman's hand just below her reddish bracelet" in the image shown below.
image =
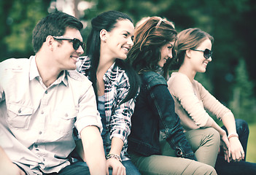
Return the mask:
[(241, 161), (244, 159), (244, 149), (238, 137), (233, 136), (229, 139), (231, 158), (233, 161)]

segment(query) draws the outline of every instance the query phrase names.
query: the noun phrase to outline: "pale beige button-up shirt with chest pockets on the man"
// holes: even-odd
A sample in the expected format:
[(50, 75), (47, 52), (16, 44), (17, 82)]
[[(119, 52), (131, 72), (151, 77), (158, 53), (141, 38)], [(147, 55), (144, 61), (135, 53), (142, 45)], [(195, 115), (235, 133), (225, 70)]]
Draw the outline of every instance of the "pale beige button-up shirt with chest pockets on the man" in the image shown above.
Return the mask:
[(0, 121), (0, 146), (34, 174), (70, 164), (74, 127), (79, 133), (88, 125), (102, 128), (91, 82), (77, 71), (63, 71), (46, 88), (34, 56), (0, 63)]

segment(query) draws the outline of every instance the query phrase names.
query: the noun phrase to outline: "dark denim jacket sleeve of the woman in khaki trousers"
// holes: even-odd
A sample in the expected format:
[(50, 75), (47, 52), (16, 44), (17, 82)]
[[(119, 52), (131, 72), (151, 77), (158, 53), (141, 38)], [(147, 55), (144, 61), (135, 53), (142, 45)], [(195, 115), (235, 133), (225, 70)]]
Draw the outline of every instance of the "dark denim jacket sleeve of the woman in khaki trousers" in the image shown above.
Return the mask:
[(152, 87), (148, 98), (151, 104), (150, 106), (152, 106), (153, 112), (155, 113), (154, 115), (159, 117), (160, 131), (165, 133), (168, 144), (176, 150), (177, 156), (193, 159), (193, 150), (185, 137), (179, 117), (175, 113), (174, 100), (167, 86), (156, 85)]

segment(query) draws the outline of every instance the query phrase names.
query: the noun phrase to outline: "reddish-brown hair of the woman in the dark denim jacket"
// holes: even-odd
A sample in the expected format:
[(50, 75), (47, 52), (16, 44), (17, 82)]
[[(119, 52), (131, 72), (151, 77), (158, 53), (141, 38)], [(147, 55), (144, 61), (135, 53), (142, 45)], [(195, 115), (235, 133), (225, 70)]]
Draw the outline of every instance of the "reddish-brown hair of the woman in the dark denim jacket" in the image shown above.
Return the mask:
[[(177, 31), (171, 22), (159, 17), (149, 18), (136, 28), (134, 45), (126, 61), (137, 72), (158, 71), (158, 61), (161, 58), (160, 47), (176, 39)], [(170, 63), (171, 61), (167, 61), (163, 66), (162, 75), (165, 78), (168, 76)]]

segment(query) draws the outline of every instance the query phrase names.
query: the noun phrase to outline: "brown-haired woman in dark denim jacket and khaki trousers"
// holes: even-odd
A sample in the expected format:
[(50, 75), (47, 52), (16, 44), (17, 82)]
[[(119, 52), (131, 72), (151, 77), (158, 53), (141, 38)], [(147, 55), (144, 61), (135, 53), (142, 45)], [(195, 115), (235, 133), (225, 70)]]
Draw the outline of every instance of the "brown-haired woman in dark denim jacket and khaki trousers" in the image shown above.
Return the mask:
[[(139, 73), (141, 89), (131, 117), (128, 153), (141, 174), (216, 174), (212, 166), (196, 161), (196, 152), (201, 149), (204, 157), (213, 159), (220, 145), (219, 134), (206, 129), (199, 134), (200, 144), (191, 147), (174, 112), (166, 77), (176, 39), (173, 24), (159, 17), (136, 28), (126, 61)], [(209, 154), (207, 147), (213, 153)]]

